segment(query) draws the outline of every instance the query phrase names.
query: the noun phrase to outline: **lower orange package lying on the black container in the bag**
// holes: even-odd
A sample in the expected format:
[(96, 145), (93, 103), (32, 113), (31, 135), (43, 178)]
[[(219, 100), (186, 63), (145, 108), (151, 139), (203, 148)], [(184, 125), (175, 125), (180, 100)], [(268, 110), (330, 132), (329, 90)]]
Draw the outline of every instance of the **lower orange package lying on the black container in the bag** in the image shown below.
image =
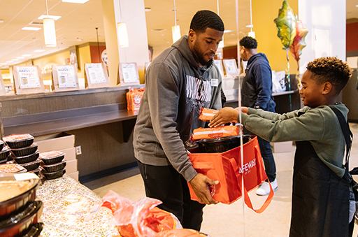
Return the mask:
[(192, 140), (210, 139), (210, 138), (222, 138), (224, 136), (238, 136), (239, 126), (220, 126), (203, 129), (194, 129), (192, 133)]

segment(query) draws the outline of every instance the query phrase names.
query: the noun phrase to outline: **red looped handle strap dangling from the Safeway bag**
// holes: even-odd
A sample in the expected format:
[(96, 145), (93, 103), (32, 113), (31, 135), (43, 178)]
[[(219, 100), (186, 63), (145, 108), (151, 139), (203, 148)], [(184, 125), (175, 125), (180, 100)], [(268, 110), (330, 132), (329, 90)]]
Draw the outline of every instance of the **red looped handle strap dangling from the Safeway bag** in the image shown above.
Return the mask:
[[(255, 158), (256, 159), (257, 159), (257, 154), (259, 154), (257, 149), (258, 149), (258, 147), (255, 146)], [(234, 168), (238, 187), (240, 188), (239, 184), (241, 184), (241, 177), (240, 177), (240, 171), (238, 169), (238, 164), (236, 163), (234, 158), (229, 159), (229, 161), (231, 163), (232, 168)], [(272, 189), (270, 180), (268, 180), (268, 185), (270, 185), (270, 194), (268, 194), (266, 201), (264, 202), (264, 204), (262, 204), (262, 207), (259, 209), (254, 209), (254, 207), (252, 206), (252, 203), (251, 203), (250, 196), (248, 194), (248, 190), (246, 190), (245, 185), (243, 186), (243, 191), (244, 191), (244, 195), (245, 195), (245, 204), (246, 204), (246, 206), (248, 206), (248, 208), (255, 211), (255, 213), (262, 213), (264, 210), (266, 210), (266, 208), (268, 207), (268, 205), (271, 203), (271, 201), (273, 199), (273, 189)]]

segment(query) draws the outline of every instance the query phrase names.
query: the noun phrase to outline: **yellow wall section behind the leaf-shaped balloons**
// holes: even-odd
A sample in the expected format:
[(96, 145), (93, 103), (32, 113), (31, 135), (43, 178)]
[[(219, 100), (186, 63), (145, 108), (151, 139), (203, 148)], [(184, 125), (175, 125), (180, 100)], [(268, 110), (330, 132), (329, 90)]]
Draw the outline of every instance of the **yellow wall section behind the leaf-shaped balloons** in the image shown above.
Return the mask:
[[(286, 50), (282, 50), (283, 45), (277, 36), (276, 24), (273, 22), (278, 17), (282, 2), (283, 0), (252, 0), (252, 24), (258, 42), (257, 52), (263, 52), (267, 56), (271, 69), (275, 71), (287, 69)], [(298, 0), (287, 0), (287, 2), (294, 14), (299, 15)], [(289, 73), (298, 73), (297, 63), (291, 52), (289, 52)]]

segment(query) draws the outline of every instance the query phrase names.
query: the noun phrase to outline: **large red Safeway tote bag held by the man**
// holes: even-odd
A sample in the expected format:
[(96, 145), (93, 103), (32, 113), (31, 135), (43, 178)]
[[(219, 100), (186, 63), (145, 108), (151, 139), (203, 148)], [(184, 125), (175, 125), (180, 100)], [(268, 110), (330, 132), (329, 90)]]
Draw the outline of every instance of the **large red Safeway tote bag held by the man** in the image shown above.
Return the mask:
[[(219, 180), (218, 185), (210, 185), (211, 196), (221, 203), (234, 203), (241, 198), (241, 178), (244, 180), (245, 204), (256, 213), (262, 213), (271, 203), (273, 189), (261, 208), (252, 207), (248, 192), (255, 189), (267, 179), (264, 162), (257, 136), (243, 144), (243, 165), (241, 166), (241, 147), (222, 153), (189, 153), (189, 159), (198, 173), (208, 176), (212, 180)], [(199, 201), (192, 186), (188, 183), (192, 200)]]

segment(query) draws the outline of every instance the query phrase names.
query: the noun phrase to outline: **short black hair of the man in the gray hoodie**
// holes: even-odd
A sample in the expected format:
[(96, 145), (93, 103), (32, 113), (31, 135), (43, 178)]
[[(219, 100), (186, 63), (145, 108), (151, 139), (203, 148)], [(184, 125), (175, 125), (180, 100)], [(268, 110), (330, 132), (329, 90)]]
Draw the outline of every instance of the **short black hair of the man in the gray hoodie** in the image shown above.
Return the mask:
[(190, 23), (190, 29), (197, 33), (203, 33), (206, 28), (216, 29), (217, 31), (224, 31), (225, 29), (224, 22), (216, 13), (211, 10), (199, 10)]

